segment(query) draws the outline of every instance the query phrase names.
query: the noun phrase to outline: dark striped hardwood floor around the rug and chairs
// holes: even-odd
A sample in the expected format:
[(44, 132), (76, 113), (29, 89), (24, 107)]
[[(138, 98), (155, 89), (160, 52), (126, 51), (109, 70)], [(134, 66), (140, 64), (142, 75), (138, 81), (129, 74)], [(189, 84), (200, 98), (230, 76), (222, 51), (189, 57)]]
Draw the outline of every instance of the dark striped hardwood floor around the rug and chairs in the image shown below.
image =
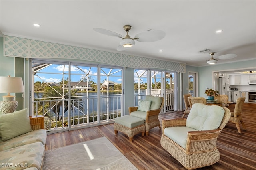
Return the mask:
[[(230, 111), (234, 111), (234, 106), (231, 104), (228, 107)], [(161, 114), (159, 119), (161, 121), (164, 118), (181, 118), (182, 115), (183, 112), (178, 111)], [(220, 161), (200, 170), (256, 170), (256, 104), (244, 103), (242, 117), (247, 130), (243, 130), (240, 125), (242, 133), (239, 134), (236, 126), (228, 122), (216, 144), (221, 156)], [(115, 136), (111, 123), (50, 134), (47, 136), (46, 150), (106, 136), (139, 170), (185, 170), (162, 148), (161, 135), (162, 130), (154, 127), (150, 130), (149, 136), (142, 137), (141, 134), (137, 134), (133, 142), (129, 142), (128, 137), (121, 132)]]

